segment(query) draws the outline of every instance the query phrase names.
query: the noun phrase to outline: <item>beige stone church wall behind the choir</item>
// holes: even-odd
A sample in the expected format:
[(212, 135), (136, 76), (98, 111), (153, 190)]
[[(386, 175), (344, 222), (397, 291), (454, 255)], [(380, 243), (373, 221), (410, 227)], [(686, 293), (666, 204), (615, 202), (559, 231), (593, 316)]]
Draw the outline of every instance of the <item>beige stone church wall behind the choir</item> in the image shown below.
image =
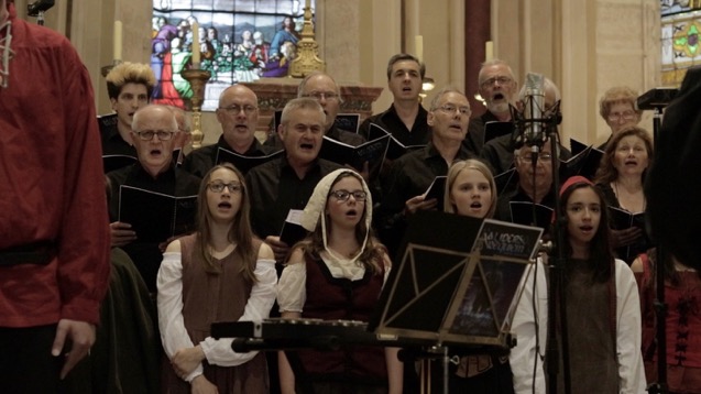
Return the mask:
[[(401, 51), (414, 54), (419, 34), (427, 76), (436, 80), (432, 94), (447, 84), (464, 89), (470, 48), (464, 47), (462, 0), (317, 2), (317, 41), (327, 72), (341, 84), (384, 87), (375, 111), (392, 102), (387, 59)], [(15, 3), (24, 15), (28, 1)], [(113, 21), (124, 23), (124, 61), (147, 63), (150, 9), (149, 1), (73, 0), (57, 1), (46, 13), (46, 25), (66, 34), (88, 67), (98, 113), (111, 111), (100, 70), (111, 64)], [(598, 101), (609, 87), (628, 85), (642, 94), (660, 85), (658, 0), (491, 0), (491, 9), (494, 56), (512, 64), (519, 83), (527, 72), (538, 72), (560, 87), (563, 138), (605, 140), (609, 129)], [(650, 118), (644, 117), (649, 130)], [(220, 130), (213, 116), (205, 113), (202, 122), (205, 143), (216, 141)]]

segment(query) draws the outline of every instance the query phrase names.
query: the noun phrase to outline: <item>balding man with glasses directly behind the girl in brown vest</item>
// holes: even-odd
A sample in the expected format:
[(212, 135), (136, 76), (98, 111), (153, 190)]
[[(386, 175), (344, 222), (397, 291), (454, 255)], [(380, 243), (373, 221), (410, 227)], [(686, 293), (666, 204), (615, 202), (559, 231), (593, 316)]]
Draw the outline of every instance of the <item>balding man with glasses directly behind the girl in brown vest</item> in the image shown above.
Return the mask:
[(243, 85), (224, 89), (219, 96), (217, 108), (217, 120), (222, 131), (219, 141), (190, 152), (183, 162), (183, 168), (204, 177), (215, 166), (219, 147), (243, 156), (265, 156), (273, 153), (272, 147), (263, 146), (255, 138), (258, 117), (258, 97), (253, 90)]

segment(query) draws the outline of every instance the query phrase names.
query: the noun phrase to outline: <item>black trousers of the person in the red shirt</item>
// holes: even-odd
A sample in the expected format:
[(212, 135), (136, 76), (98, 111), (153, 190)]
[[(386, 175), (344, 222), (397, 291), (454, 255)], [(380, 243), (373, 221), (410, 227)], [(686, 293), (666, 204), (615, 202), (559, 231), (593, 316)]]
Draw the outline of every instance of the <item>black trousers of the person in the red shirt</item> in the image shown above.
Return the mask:
[(55, 336), (56, 325), (0, 327), (0, 384), (3, 393), (58, 392), (63, 355), (51, 354)]

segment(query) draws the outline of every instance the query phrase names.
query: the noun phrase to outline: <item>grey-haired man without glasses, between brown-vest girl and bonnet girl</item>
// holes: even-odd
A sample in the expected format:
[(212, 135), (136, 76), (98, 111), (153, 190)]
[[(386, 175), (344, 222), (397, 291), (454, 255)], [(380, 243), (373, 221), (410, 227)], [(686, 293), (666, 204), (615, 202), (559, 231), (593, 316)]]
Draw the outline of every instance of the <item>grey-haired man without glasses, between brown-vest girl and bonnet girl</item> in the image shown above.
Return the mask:
[(291, 100), (283, 110), (280, 158), (251, 169), (245, 176), (251, 196), (251, 225), (281, 262), (289, 247), (280, 232), (291, 209), (304, 209), (316, 184), (340, 165), (318, 158), (325, 131), (325, 113), (311, 98)]

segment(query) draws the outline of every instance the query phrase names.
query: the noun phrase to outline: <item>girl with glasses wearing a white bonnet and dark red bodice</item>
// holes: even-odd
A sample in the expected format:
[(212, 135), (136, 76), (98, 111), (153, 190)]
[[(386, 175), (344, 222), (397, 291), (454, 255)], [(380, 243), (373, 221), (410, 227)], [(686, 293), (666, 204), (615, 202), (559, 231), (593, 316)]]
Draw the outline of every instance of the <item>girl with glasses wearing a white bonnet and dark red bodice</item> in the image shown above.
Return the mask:
[[(310, 233), (292, 249), (280, 278), (283, 318), (369, 320), (391, 269), (371, 222), (370, 190), (358, 173), (337, 169), (319, 182), (302, 217)], [(280, 354), (283, 393), (303, 392), (291, 362), (302, 366), (315, 393), (402, 392), (403, 366), (394, 348), (344, 346), (300, 350), (295, 358)]]

